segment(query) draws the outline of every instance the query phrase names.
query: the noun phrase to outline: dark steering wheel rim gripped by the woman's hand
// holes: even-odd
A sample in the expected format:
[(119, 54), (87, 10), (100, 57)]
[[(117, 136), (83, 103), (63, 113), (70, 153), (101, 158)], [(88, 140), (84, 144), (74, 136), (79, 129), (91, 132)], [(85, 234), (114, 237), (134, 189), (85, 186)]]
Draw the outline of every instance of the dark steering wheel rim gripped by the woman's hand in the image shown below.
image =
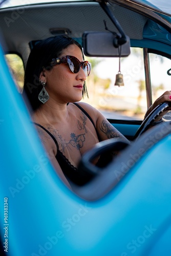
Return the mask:
[(166, 101), (166, 102), (160, 103), (158, 106), (156, 106), (156, 108), (151, 113), (149, 113), (149, 115), (143, 120), (143, 122), (141, 123), (139, 129), (137, 130), (136, 134), (134, 135), (133, 140), (137, 139), (142, 133), (144, 133), (149, 128), (149, 126), (151, 126), (153, 124), (155, 119), (164, 110), (166, 110), (170, 106), (171, 106), (171, 102), (170, 101)]

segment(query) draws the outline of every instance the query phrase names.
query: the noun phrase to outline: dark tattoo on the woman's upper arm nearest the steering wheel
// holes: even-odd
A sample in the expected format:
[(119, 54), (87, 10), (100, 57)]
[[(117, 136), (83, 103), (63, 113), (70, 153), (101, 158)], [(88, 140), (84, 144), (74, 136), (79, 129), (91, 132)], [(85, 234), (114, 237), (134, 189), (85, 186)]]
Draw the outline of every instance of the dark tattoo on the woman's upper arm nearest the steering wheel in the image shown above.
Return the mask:
[(100, 130), (106, 135), (108, 139), (121, 138), (122, 135), (110, 124), (108, 121), (103, 120), (100, 123)]

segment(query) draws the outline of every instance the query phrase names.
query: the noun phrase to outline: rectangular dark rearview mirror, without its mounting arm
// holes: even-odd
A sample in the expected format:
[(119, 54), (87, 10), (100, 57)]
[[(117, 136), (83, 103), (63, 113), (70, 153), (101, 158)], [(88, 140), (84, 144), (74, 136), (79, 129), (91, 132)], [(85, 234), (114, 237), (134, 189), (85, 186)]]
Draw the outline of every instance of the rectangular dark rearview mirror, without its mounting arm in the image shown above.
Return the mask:
[[(94, 57), (126, 57), (130, 55), (130, 38), (120, 47), (115, 47), (117, 36), (110, 32), (84, 32), (82, 35), (83, 52)], [(121, 49), (119, 54), (119, 49)]]

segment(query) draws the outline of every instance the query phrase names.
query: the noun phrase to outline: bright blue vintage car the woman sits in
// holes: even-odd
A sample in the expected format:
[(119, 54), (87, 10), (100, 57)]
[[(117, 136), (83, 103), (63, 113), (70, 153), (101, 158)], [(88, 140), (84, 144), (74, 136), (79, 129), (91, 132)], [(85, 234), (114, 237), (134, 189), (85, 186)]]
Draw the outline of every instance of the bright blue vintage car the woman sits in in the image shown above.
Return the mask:
[[(29, 53), (68, 34), (92, 62), (88, 102), (127, 138), (82, 156), (91, 176), (69, 189), (42, 147), (23, 99)], [(0, 0), (1, 255), (170, 255), (171, 3), (165, 0)], [(98, 168), (92, 160), (119, 154)]]

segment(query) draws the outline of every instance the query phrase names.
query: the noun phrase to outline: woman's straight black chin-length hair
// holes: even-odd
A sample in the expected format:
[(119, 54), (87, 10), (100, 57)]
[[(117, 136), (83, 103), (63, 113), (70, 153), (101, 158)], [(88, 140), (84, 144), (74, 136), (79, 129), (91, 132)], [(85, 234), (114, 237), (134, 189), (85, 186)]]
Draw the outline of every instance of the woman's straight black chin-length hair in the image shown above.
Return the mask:
[[(26, 98), (26, 102), (29, 101), (32, 111), (38, 109), (42, 104), (38, 99), (38, 94), (42, 89), (39, 81), (40, 73), (44, 69), (51, 70), (53, 67), (49, 63), (52, 59), (60, 56), (63, 49), (73, 44), (77, 45), (82, 52), (81, 45), (67, 35), (58, 35), (41, 40), (31, 50), (25, 71), (23, 96)], [(84, 82), (82, 91), (82, 96), (84, 95), (88, 96), (86, 82)]]

